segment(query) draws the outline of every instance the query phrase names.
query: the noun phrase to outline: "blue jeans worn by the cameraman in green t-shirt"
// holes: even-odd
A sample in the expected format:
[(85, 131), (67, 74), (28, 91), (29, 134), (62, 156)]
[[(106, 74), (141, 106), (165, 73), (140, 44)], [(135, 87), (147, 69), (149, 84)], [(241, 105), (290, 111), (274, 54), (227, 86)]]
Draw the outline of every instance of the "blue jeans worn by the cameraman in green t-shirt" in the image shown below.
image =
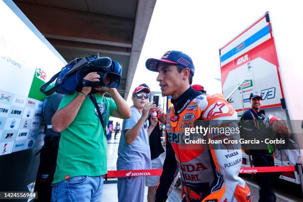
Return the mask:
[(103, 176), (76, 176), (52, 185), (51, 202), (101, 202)]

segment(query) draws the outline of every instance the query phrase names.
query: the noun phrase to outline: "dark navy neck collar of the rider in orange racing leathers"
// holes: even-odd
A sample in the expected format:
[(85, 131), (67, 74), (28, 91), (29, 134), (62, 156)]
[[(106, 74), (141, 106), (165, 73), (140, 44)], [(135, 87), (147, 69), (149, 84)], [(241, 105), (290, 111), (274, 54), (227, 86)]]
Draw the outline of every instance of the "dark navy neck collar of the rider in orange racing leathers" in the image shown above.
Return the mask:
[(179, 98), (171, 99), (171, 103), (174, 104), (174, 114), (180, 114), (199, 95), (202, 95), (202, 93), (189, 87)]

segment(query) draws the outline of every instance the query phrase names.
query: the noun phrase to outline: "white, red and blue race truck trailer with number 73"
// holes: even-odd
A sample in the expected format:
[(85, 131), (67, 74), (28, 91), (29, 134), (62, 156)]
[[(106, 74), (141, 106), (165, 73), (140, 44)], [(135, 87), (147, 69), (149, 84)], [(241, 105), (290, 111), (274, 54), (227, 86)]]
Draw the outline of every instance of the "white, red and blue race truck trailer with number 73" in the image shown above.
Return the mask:
[[(300, 36), (297, 32), (302, 36), (303, 30), (292, 27), (293, 30), (286, 31), (291, 27), (288, 18), (274, 14), (273, 25), (269, 12), (266, 12), (219, 49), (222, 93), (236, 109), (239, 118), (251, 107), (250, 94), (261, 93), (261, 112), (287, 122), (294, 140), (303, 148), (302, 63), (296, 58), (301, 51), (301, 47), (296, 46), (296, 36)], [(242, 162), (243, 167), (252, 166), (249, 155), (244, 152)], [(298, 156), (298, 162), (302, 162), (302, 155)], [(275, 158), (275, 165), (291, 164)], [(300, 184), (297, 172), (282, 173), (280, 178)]]

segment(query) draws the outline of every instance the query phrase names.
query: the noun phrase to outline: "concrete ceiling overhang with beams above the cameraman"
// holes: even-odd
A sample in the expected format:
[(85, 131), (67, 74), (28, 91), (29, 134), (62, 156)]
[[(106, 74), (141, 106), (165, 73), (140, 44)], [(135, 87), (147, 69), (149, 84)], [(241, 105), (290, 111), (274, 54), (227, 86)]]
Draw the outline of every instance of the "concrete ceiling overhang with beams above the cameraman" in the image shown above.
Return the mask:
[(156, 0), (13, 0), (68, 62), (109, 56), (122, 65), (126, 100)]

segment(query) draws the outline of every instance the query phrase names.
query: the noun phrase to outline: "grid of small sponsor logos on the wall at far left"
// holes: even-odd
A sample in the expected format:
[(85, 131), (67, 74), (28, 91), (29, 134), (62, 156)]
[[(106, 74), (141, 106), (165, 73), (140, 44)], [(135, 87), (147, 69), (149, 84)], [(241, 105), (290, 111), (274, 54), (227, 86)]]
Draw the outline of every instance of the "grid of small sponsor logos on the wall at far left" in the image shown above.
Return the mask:
[[(41, 126), (43, 102), (0, 90), (0, 155), (34, 148)], [(41, 133), (41, 132), (40, 132)]]

